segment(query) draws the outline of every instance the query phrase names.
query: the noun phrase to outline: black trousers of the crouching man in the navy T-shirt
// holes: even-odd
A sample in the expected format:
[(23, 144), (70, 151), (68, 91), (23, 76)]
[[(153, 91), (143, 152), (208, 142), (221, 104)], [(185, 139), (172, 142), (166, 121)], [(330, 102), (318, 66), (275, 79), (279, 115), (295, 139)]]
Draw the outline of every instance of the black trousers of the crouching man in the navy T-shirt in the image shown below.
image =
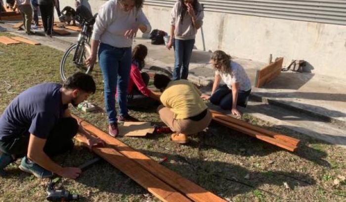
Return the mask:
[[(47, 137), (43, 151), (53, 157), (73, 149), (72, 138), (77, 134), (78, 123), (74, 118), (61, 118)], [(16, 158), (26, 156), (29, 144), (29, 132), (17, 138), (0, 141), (0, 151), (15, 155)]]

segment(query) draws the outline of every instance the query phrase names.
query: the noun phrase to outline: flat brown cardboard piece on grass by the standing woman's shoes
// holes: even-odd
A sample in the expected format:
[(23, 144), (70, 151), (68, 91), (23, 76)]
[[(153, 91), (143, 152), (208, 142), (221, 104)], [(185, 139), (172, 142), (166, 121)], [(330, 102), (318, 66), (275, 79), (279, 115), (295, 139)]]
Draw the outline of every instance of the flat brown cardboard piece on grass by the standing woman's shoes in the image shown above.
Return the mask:
[(119, 126), (121, 136), (145, 136), (154, 133), (154, 128), (149, 122), (124, 122)]

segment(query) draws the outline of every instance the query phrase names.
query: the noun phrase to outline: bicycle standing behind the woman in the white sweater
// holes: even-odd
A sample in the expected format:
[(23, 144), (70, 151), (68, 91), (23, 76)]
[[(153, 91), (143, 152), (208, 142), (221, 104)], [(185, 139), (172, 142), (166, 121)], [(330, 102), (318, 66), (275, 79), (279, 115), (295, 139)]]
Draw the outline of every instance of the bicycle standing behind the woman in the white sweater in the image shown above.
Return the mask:
[[(92, 16), (92, 14), (90, 13)], [(80, 22), (82, 31), (79, 33), (78, 41), (71, 44), (60, 62), (60, 76), (63, 81), (66, 78), (78, 71), (83, 71), (89, 74), (93, 67), (87, 67), (85, 61), (91, 54), (91, 47), (89, 44), (92, 34), (92, 27), (95, 23), (97, 13), (90, 17), (76, 16), (76, 21)]]

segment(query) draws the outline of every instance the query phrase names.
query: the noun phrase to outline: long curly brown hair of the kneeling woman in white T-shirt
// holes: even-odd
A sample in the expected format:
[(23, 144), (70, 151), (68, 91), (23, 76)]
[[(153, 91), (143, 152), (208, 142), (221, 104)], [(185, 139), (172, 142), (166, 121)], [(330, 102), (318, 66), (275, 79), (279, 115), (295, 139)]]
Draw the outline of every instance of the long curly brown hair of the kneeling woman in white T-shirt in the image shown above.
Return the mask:
[(213, 67), (221, 73), (232, 73), (230, 62), (232, 57), (221, 50), (217, 50), (211, 57)]

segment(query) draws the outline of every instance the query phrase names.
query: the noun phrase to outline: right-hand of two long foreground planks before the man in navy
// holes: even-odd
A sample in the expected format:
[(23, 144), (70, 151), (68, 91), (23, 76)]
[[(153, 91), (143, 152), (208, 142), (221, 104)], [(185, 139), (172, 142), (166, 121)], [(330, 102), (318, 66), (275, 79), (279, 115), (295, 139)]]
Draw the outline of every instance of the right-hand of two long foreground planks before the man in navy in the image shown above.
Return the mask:
[(150, 173), (158, 177), (159, 179), (165, 181), (167, 184), (185, 194), (189, 199), (194, 202), (226, 202), (215, 194), (205, 190), (204, 188), (198, 186), (197, 184), (189, 181), (188, 179), (182, 177), (181, 175), (173, 172), (172, 170), (164, 167), (163, 165), (157, 163), (151, 158), (145, 156), (144, 154), (132, 149), (127, 144), (122, 141), (111, 137), (110, 135), (104, 133), (102, 130), (92, 126), (83, 119), (74, 116), (80, 123), (80, 125), (95, 136), (98, 136), (104, 140), (107, 144), (112, 145), (120, 153), (133, 159), (143, 168), (148, 170)]

